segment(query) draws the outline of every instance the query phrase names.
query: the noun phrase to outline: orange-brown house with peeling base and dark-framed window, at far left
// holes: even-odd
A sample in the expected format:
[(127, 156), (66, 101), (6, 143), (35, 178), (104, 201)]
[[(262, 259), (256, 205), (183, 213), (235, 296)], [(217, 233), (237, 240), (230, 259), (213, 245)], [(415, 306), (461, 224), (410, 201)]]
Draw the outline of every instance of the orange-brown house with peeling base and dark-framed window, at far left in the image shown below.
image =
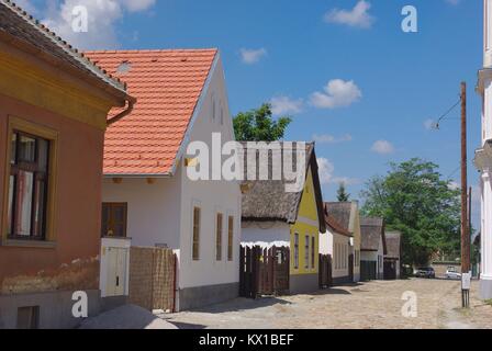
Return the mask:
[(23, 10), (0, 1), (0, 328), (70, 328), (101, 307), (104, 131), (132, 99)]

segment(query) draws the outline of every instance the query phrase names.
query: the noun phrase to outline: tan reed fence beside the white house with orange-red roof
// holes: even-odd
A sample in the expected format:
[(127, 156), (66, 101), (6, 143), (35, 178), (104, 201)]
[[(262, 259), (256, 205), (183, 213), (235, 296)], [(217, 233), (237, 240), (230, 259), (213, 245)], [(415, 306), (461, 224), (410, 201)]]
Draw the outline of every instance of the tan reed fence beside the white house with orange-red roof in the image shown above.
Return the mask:
[(175, 310), (176, 256), (171, 249), (132, 247), (130, 303), (148, 310)]

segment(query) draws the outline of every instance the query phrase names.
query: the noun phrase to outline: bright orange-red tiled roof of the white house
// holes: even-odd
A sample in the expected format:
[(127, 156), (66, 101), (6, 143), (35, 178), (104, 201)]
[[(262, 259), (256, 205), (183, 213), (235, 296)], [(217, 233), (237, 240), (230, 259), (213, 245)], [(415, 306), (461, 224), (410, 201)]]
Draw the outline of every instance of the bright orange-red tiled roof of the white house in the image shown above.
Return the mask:
[[(104, 174), (171, 171), (216, 54), (216, 49), (86, 53), (125, 81), (137, 100), (130, 115), (108, 127)], [(109, 117), (120, 111), (113, 110)]]

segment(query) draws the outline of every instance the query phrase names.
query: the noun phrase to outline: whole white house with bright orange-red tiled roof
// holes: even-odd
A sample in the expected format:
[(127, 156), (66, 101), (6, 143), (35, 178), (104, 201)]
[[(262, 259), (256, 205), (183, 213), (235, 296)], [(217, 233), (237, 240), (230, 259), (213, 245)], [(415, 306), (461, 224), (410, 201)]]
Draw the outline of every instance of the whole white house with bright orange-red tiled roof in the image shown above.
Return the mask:
[(107, 132), (102, 235), (131, 237), (132, 246), (174, 249), (178, 310), (236, 297), (239, 183), (193, 181), (187, 172), (206, 167), (197, 155), (187, 155), (190, 143), (212, 149), (213, 134), (222, 143), (234, 140), (219, 50), (87, 56), (125, 81), (137, 99), (130, 115)]

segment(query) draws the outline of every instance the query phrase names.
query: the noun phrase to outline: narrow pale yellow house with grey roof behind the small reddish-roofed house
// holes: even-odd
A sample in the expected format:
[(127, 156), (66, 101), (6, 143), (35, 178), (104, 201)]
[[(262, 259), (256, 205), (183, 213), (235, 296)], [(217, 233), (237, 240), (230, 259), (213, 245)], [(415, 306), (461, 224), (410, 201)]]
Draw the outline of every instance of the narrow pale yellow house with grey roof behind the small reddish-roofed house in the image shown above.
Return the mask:
[[(345, 231), (348, 231), (353, 238), (346, 247), (345, 242), (333, 242), (334, 257), (345, 257), (348, 251), (348, 276), (344, 280), (350, 282), (358, 282), (360, 280), (360, 218), (359, 205), (354, 202), (327, 202), (325, 203), (325, 211), (328, 217), (333, 217)], [(342, 254), (337, 254), (342, 252)], [(342, 263), (336, 264), (334, 261), (333, 270), (345, 270), (346, 264), (343, 259)], [(342, 265), (340, 265), (342, 264)], [(338, 269), (337, 269), (338, 268)]]

